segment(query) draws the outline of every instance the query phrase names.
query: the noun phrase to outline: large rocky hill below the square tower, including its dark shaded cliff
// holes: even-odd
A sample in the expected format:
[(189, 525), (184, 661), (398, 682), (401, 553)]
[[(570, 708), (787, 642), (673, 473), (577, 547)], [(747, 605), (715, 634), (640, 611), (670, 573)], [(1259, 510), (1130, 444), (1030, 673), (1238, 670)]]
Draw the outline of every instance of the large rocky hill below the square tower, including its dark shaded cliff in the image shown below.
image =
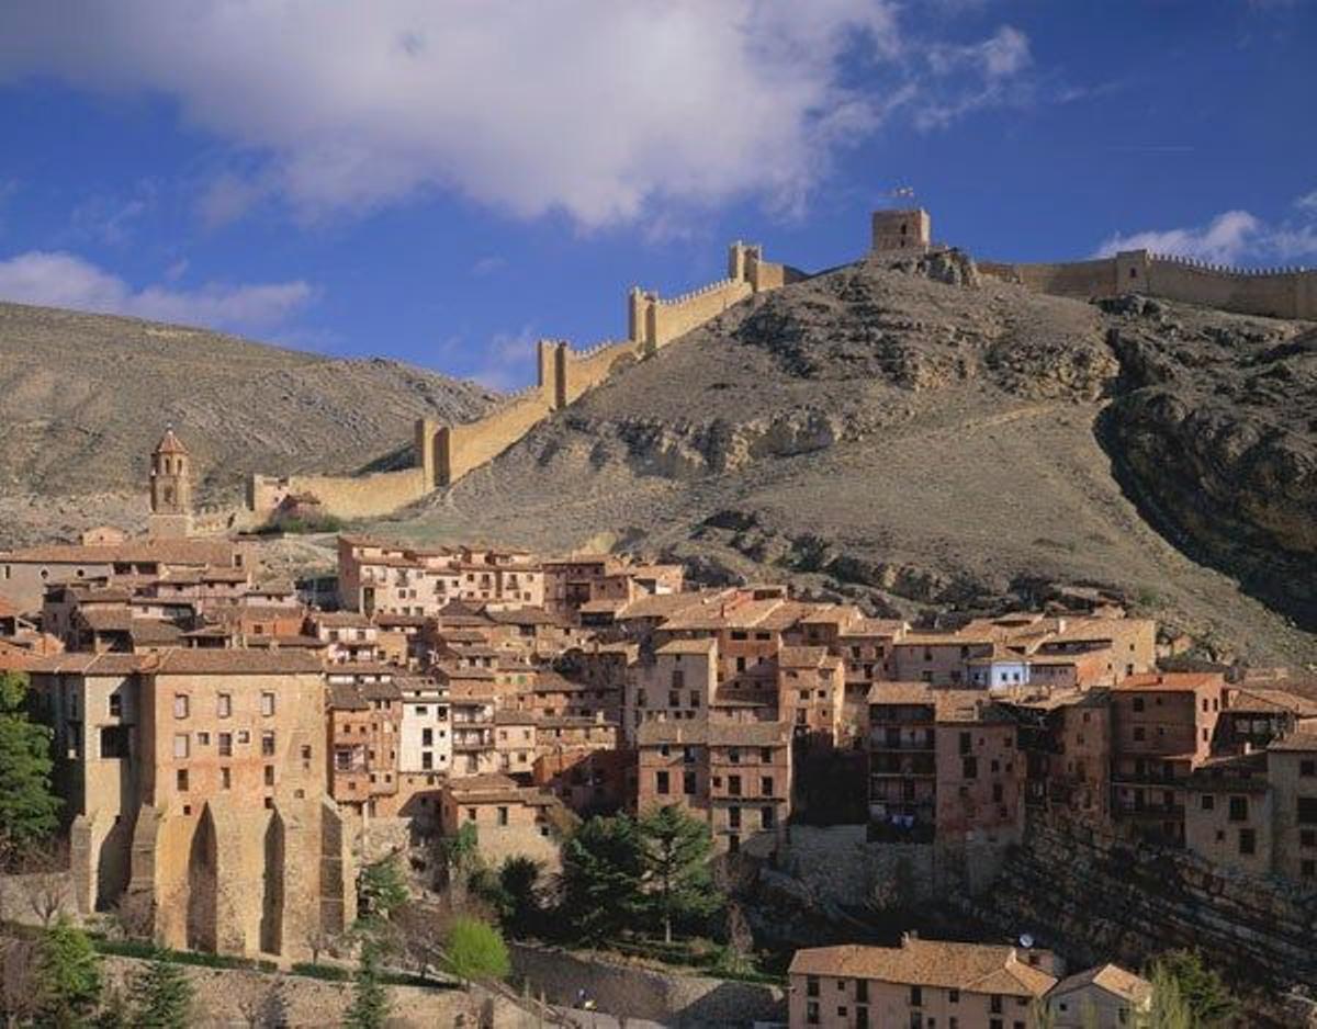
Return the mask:
[(1309, 329), (871, 259), (732, 308), (379, 528), (907, 616), (1104, 587), (1206, 653), (1313, 661)]

